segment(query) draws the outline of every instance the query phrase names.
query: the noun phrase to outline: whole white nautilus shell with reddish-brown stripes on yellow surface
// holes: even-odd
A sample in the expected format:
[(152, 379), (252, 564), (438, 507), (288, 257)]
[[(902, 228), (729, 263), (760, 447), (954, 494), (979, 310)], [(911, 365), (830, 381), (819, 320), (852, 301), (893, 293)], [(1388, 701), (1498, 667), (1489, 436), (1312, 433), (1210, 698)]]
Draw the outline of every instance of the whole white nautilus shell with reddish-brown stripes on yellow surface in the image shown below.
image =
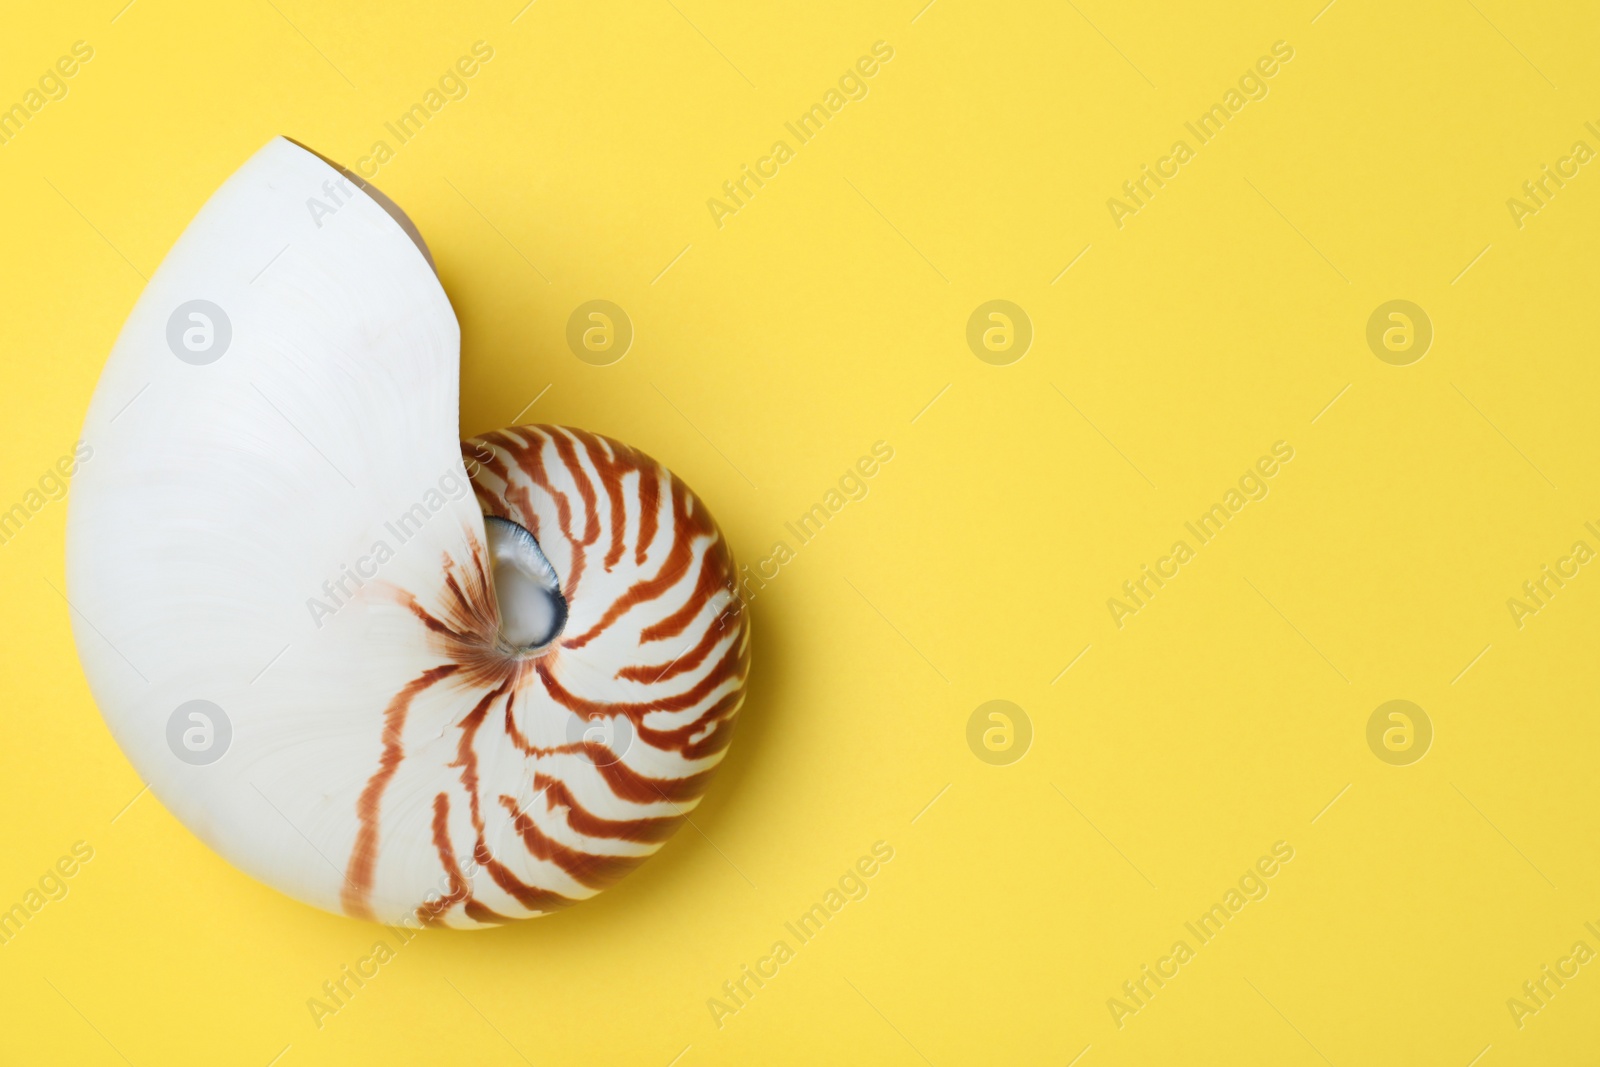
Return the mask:
[(301, 901), (480, 926), (594, 896), (694, 808), (749, 625), (706, 506), (608, 437), (458, 440), (416, 229), (275, 139), (205, 205), (90, 406), (67, 600), (152, 792)]

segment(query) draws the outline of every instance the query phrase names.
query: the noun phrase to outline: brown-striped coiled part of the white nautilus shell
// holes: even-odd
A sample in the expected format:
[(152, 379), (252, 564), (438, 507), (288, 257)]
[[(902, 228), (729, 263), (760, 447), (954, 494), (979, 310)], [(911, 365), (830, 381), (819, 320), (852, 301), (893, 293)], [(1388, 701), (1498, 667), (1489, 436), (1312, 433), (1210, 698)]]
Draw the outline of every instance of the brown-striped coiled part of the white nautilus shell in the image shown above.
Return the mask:
[(483, 514), (538, 539), (566, 627), (538, 656), (506, 651), (477, 533), (434, 595), (395, 593), (438, 661), (374, 718), (342, 891), (362, 918), (395, 921), (403, 901), (429, 925), (482, 926), (594, 896), (694, 808), (744, 702), (733, 557), (672, 472), (550, 426), (464, 442), (462, 458)]

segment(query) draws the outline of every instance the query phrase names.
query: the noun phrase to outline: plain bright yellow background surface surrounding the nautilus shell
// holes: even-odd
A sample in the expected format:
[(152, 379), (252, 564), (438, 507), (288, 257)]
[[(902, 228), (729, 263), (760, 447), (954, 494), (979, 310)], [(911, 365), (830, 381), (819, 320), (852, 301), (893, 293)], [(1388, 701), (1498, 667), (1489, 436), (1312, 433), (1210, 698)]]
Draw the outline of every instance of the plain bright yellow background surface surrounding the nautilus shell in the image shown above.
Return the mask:
[[(354, 165), (477, 40), (469, 94), (376, 176), (461, 318), (462, 434), (549, 386), (526, 421), (666, 461), (746, 561), (874, 442), (894, 459), (754, 600), (701, 832), (571, 912), (426, 934), (322, 1029), (307, 998), (376, 931), (139, 795), (48, 504), (0, 547), (0, 905), (94, 859), (0, 947), (0, 1061), (1594, 1054), (1600, 965), (1522, 1029), (1506, 1001), (1600, 949), (1600, 574), (1522, 629), (1506, 600), (1600, 547), (1600, 174), (1522, 229), (1506, 200), (1600, 147), (1600, 16), (922, 2), (8, 6), (0, 101), (94, 59), (0, 147), (0, 506), (70, 450), (218, 184), (280, 133)], [(706, 200), (878, 40), (870, 94), (718, 229)], [(1106, 200), (1278, 40), (1270, 94), (1118, 229)], [(637, 331), (613, 366), (565, 344), (595, 298)], [(966, 347), (989, 299), (1034, 323), (1010, 366)], [(1411, 366), (1365, 341), (1390, 299), (1434, 323)], [(1117, 629), (1106, 600), (1277, 440), (1270, 496)], [(990, 699), (1034, 726), (1010, 766), (966, 744)], [(1434, 723), (1411, 766), (1366, 745), (1389, 699)], [(878, 840), (870, 894), (718, 1029), (707, 1000)], [(1278, 840), (1270, 894), (1118, 1029), (1107, 998)]]

